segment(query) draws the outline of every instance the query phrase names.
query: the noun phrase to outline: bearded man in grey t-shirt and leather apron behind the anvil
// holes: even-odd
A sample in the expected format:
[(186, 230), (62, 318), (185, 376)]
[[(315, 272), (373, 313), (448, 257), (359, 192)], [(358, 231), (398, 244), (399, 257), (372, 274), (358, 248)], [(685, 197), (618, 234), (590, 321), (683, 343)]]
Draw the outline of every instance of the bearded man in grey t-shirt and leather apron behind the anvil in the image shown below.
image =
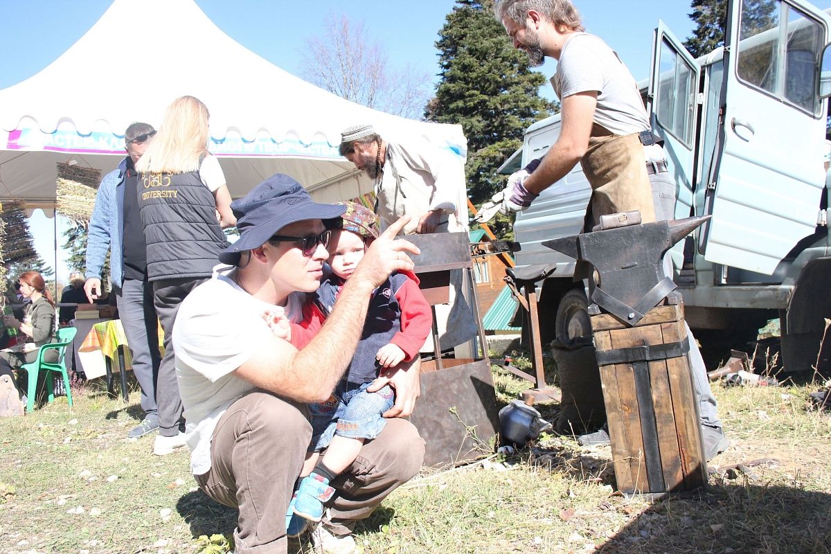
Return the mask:
[[(494, 12), (514, 48), (528, 54), (531, 66), (541, 66), (546, 56), (558, 61), (551, 84), (562, 116), (560, 135), (548, 153), (509, 177), (503, 210), (528, 208), (580, 162), (592, 185), (584, 232), (607, 213), (637, 210), (643, 223), (674, 218), (675, 183), (663, 149), (652, 137), (637, 83), (617, 53), (599, 37), (583, 32), (580, 12), (570, 0), (498, 0)], [(729, 442), (689, 326), (687, 334), (709, 460)], [(600, 431), (584, 440), (597, 444), (603, 439), (608, 435)]]

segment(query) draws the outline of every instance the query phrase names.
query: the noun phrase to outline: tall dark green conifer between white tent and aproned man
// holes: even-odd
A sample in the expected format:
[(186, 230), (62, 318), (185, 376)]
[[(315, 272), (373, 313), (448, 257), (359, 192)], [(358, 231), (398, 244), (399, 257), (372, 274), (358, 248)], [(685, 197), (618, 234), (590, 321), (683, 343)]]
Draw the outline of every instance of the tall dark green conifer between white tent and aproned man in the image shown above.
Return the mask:
[(493, 0), (456, 0), (435, 43), (440, 83), (425, 109), (427, 120), (460, 124), (468, 140), (468, 195), (479, 204), (504, 187), (496, 174), (522, 145), (524, 130), (553, 113), (539, 96), (545, 77), (530, 71), (496, 20)]

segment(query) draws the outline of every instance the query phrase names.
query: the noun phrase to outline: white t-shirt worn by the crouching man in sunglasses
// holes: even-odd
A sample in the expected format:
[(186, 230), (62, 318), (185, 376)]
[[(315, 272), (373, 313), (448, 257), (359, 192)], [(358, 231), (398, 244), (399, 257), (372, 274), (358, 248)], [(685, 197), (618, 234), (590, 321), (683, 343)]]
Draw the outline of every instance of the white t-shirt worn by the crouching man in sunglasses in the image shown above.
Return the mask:
[(236, 269), (219, 273), (220, 268), (228, 270), (227, 265), (214, 267), (214, 276), (184, 299), (173, 326), (176, 379), (194, 475), (210, 469), (210, 441), (219, 418), (255, 389), (232, 372), (270, 340), (263, 311), (288, 313), (292, 321), (299, 321), (302, 311), (301, 294), (290, 296), (285, 308), (274, 306), (243, 291), (233, 280)]

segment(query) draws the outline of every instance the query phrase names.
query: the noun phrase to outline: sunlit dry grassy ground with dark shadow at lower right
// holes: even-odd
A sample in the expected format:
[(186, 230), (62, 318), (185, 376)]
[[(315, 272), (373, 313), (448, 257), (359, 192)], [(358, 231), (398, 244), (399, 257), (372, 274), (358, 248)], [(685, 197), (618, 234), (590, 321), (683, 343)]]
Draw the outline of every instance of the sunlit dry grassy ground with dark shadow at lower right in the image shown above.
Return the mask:
[[(496, 381), (503, 401), (523, 388)], [(419, 476), (356, 538), (367, 554), (831, 552), (831, 414), (806, 409), (811, 390), (716, 385), (733, 445), (701, 498), (622, 498), (607, 447), (544, 436), (513, 458)], [(125, 439), (138, 418), (87, 389), (72, 409), (61, 398), (0, 419), (0, 552), (225, 552), (199, 536), (230, 535), (236, 512), (196, 490), (187, 452), (158, 458), (151, 437)]]

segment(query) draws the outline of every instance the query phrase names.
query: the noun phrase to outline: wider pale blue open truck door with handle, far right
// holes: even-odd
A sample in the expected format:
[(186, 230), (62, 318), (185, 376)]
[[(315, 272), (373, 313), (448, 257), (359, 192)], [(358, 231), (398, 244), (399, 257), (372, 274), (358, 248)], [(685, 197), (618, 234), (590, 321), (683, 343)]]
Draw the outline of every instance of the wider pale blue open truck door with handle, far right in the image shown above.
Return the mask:
[(771, 274), (817, 224), (824, 189), (819, 59), (829, 20), (802, 0), (730, 2), (710, 262)]

